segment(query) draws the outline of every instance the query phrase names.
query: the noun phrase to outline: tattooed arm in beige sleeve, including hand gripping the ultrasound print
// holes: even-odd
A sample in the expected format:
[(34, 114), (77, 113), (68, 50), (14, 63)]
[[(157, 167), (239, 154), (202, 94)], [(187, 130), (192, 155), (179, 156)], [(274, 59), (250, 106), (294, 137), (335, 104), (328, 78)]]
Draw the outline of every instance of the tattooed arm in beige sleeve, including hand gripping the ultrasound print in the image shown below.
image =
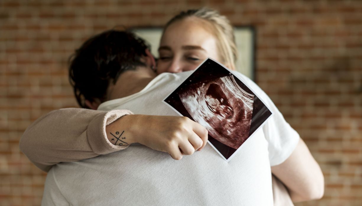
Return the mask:
[[(174, 159), (206, 145), (207, 130), (188, 118), (129, 114), (128, 110), (55, 110), (26, 129), (20, 150), (34, 165), (49, 171), (59, 162), (108, 154), (136, 142), (168, 152)], [(128, 144), (114, 145), (113, 135)]]

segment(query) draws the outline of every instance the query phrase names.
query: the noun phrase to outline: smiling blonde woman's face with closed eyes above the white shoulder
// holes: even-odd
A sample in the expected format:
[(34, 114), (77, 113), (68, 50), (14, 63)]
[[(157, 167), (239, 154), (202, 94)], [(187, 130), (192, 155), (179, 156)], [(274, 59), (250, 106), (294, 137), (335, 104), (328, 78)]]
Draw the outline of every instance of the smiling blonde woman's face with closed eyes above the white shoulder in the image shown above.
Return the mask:
[(220, 61), (216, 38), (205, 29), (208, 24), (191, 17), (169, 25), (160, 41), (157, 73), (194, 70), (207, 57)]

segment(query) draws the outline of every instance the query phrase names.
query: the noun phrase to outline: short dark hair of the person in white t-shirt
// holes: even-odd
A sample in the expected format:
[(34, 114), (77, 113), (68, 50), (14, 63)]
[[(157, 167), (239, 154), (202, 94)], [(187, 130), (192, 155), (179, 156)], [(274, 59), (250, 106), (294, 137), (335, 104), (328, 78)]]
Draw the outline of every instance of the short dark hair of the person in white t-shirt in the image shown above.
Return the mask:
[(85, 41), (70, 58), (69, 79), (78, 104), (88, 108), (90, 102), (106, 101), (110, 83), (137, 66), (146, 66), (141, 58), (150, 46), (130, 31), (108, 30)]

